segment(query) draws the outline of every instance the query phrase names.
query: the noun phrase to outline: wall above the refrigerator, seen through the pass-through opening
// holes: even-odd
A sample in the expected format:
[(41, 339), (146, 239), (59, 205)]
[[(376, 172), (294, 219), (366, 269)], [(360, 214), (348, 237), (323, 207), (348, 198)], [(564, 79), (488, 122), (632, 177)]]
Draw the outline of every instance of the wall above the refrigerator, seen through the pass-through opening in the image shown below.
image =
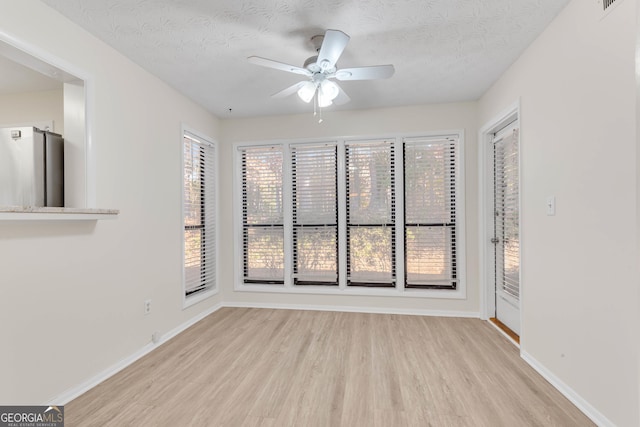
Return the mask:
[(63, 104), (62, 89), (0, 95), (0, 125), (53, 120), (53, 131), (64, 135)]

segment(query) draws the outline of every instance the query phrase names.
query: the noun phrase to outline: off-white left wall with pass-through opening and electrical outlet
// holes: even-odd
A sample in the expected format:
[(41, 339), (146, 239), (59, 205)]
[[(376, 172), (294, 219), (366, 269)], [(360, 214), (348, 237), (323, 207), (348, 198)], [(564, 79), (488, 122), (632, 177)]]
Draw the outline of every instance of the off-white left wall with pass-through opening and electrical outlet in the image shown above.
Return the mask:
[(40, 404), (219, 302), (182, 310), (180, 164), (181, 122), (218, 121), (38, 1), (3, 3), (0, 32), (92, 76), (96, 205), (120, 209), (0, 221), (0, 403)]

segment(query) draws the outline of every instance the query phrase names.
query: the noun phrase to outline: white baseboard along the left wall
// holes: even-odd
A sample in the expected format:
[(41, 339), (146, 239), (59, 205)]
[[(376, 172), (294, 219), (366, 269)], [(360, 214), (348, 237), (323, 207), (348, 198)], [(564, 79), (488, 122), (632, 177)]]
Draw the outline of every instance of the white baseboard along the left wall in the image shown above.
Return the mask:
[(177, 327), (173, 328), (169, 332), (163, 334), (160, 337), (160, 339), (158, 340), (157, 343), (150, 342), (150, 343), (146, 344), (144, 347), (142, 347), (140, 350), (136, 351), (132, 355), (122, 359), (121, 361), (119, 361), (115, 365), (110, 366), (107, 369), (105, 369), (104, 371), (100, 372), (99, 374), (89, 378), (87, 381), (83, 382), (82, 384), (80, 384), (80, 385), (78, 385), (76, 387), (72, 387), (69, 390), (66, 390), (65, 392), (63, 392), (59, 396), (54, 397), (53, 399), (49, 400), (48, 402), (44, 403), (43, 405), (46, 405), (46, 406), (48, 406), (48, 405), (66, 405), (67, 403), (69, 403), (70, 401), (75, 399), (76, 397), (80, 396), (81, 394), (86, 393), (87, 391), (91, 390), (93, 387), (97, 386), (98, 384), (100, 384), (104, 380), (106, 380), (106, 379), (112, 377), (113, 375), (117, 374), (118, 372), (120, 372), (121, 370), (126, 368), (127, 366), (131, 365), (136, 360), (138, 360), (141, 357), (149, 354), (150, 352), (155, 350), (158, 346), (160, 346), (160, 345), (164, 344), (165, 342), (169, 341), (171, 338), (175, 337), (180, 332), (186, 330), (190, 326), (193, 326), (194, 324), (198, 323), (200, 320), (202, 320), (205, 317), (207, 317), (208, 315), (218, 311), (222, 307), (223, 307), (223, 305), (221, 303), (218, 303), (218, 304), (214, 305), (213, 307), (209, 308), (208, 310), (203, 311), (202, 313), (200, 313), (197, 316), (189, 319), (185, 323), (183, 323), (181, 325), (178, 325)]

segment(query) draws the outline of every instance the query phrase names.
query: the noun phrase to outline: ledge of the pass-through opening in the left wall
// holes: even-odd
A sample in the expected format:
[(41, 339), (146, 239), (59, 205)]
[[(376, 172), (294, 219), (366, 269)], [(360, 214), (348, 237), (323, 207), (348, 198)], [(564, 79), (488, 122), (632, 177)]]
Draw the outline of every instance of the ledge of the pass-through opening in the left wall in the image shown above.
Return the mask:
[(5, 221), (96, 221), (115, 219), (120, 213), (117, 209), (93, 208), (53, 208), (36, 206), (0, 207), (0, 220)]

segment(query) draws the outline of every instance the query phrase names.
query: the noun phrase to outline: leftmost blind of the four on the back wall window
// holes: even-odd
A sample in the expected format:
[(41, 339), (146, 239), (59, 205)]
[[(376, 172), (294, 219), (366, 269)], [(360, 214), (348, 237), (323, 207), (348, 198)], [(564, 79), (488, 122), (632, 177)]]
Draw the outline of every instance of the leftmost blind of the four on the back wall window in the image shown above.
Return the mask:
[(283, 150), (247, 147), (242, 156), (244, 282), (284, 283)]

